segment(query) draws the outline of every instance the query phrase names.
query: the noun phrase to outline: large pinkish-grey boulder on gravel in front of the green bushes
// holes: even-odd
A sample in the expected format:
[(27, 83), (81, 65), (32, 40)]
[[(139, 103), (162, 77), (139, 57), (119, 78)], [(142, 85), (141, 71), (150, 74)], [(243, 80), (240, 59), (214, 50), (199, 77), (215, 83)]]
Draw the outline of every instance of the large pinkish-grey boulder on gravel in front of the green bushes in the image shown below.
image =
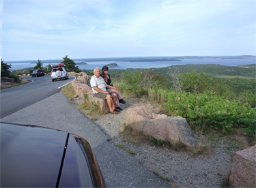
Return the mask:
[(149, 114), (145, 106), (130, 108), (126, 112), (126, 125), (158, 140), (183, 142), (187, 146), (197, 146), (195, 134), (190, 129), (186, 119), (181, 116), (165, 114)]

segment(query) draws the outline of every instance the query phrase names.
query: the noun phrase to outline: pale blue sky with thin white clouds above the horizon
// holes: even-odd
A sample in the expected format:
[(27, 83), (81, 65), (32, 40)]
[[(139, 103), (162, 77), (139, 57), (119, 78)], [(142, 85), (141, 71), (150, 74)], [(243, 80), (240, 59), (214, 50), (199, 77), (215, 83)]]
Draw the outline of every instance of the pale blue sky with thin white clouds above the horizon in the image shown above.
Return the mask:
[(4, 61), (255, 55), (255, 0), (0, 0)]

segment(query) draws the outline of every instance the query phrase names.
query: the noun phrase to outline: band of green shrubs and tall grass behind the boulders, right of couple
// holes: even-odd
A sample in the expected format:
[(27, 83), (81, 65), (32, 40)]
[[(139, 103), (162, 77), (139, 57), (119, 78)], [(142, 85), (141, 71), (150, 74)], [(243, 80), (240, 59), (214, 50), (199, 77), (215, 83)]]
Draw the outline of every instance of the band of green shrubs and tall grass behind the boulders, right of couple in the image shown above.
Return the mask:
[(238, 92), (233, 90), (236, 87), (229, 87), (223, 80), (216, 82), (203, 72), (179, 71), (169, 70), (169, 76), (164, 76), (150, 69), (135, 73), (126, 69), (111, 78), (122, 93), (158, 102), (169, 116), (186, 118), (193, 131), (200, 129), (209, 134), (214, 129), (229, 135), (238, 128), (246, 131), (249, 140), (255, 140), (255, 80), (247, 82), (247, 90)]

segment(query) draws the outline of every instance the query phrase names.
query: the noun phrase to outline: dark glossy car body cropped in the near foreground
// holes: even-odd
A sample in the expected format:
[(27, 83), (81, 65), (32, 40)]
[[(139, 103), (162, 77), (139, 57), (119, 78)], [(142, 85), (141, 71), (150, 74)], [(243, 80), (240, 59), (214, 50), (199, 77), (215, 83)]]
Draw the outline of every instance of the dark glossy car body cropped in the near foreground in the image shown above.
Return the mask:
[(1, 187), (106, 187), (84, 138), (35, 125), (0, 127)]

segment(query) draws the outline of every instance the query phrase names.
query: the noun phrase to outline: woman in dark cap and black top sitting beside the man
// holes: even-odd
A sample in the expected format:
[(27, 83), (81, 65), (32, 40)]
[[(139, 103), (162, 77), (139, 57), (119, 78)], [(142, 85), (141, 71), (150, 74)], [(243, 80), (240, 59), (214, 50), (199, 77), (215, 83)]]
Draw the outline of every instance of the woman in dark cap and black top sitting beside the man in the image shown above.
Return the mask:
[[(106, 66), (103, 66), (102, 67), (102, 74), (100, 74), (100, 76), (105, 80), (106, 84), (108, 85), (111, 85), (111, 79), (110, 79), (110, 76), (108, 74), (109, 72), (109, 67), (106, 67)], [(115, 108), (119, 109), (119, 110), (122, 110), (122, 108), (120, 108), (120, 104), (119, 103), (122, 103), (122, 104), (126, 104), (126, 101), (124, 101), (119, 93), (119, 89), (117, 87), (114, 87), (113, 89), (107, 89), (107, 91), (112, 91), (113, 93), (117, 93), (117, 101), (115, 103)]]

